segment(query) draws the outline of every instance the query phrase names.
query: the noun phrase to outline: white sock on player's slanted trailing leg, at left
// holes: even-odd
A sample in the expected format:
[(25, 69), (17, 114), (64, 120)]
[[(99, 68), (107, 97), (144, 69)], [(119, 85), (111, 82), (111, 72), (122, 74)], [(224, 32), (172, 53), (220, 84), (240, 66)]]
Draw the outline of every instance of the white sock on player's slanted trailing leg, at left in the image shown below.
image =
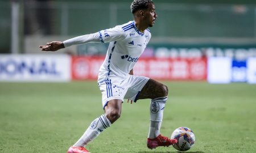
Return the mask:
[(111, 125), (111, 122), (104, 114), (102, 114), (100, 117), (96, 118), (92, 123), (90, 124), (89, 128), (85, 131), (85, 133), (82, 135), (82, 137), (73, 145), (74, 147), (82, 146), (84, 147), (87, 145), (90, 141), (93, 141), (98, 135), (106, 128), (109, 128)]

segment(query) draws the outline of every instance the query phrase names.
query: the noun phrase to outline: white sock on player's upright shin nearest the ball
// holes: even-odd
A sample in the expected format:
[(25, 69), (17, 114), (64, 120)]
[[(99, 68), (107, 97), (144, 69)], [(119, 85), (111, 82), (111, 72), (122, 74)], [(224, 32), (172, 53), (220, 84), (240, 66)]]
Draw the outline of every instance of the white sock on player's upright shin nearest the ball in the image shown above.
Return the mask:
[(148, 138), (154, 139), (160, 134), (160, 128), (163, 121), (163, 111), (166, 105), (167, 96), (151, 100), (150, 104), (150, 129)]

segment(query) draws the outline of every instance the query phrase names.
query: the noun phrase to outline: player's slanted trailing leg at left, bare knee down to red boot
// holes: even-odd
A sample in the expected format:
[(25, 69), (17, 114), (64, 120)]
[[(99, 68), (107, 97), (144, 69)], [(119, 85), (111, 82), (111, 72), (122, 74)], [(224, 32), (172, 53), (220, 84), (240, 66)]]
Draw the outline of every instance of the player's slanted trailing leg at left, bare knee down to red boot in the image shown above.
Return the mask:
[[(122, 100), (113, 99), (108, 101), (108, 104), (105, 106), (105, 114), (102, 114), (100, 117), (92, 121), (88, 129), (82, 135), (82, 137), (69, 148), (68, 153), (76, 153), (79, 151), (86, 152), (84, 148), (89, 142), (93, 141), (102, 131), (106, 128), (109, 128), (120, 116), (122, 109)], [(89, 152), (89, 151), (87, 151)]]

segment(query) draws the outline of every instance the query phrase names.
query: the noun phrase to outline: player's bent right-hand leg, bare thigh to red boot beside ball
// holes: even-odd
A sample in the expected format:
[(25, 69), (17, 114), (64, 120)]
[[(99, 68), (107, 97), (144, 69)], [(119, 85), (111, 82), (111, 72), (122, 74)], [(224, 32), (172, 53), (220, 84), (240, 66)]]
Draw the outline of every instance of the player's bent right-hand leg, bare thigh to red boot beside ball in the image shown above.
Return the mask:
[(176, 139), (168, 139), (160, 134), (167, 97), (168, 87), (153, 79), (148, 80), (137, 97), (137, 99), (151, 99), (150, 130), (147, 141), (148, 148), (170, 146), (177, 142)]

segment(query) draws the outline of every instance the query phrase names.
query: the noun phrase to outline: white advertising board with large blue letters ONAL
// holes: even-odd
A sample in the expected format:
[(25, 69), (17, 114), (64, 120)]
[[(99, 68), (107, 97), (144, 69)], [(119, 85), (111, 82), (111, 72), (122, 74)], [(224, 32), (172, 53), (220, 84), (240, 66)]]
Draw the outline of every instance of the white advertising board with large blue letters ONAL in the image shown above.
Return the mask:
[(68, 55), (0, 55), (0, 81), (66, 82), (70, 65)]

